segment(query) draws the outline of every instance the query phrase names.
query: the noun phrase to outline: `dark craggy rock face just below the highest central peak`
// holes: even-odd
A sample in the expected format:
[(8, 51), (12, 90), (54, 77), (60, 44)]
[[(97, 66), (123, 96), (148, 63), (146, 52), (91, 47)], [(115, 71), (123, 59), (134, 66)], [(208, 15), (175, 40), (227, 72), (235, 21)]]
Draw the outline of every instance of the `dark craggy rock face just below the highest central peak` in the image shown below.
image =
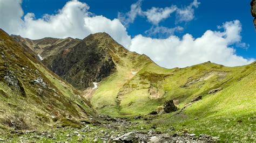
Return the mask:
[(112, 42), (106, 33), (91, 34), (58, 54), (48, 68), (78, 89), (90, 87), (116, 70), (110, 53)]

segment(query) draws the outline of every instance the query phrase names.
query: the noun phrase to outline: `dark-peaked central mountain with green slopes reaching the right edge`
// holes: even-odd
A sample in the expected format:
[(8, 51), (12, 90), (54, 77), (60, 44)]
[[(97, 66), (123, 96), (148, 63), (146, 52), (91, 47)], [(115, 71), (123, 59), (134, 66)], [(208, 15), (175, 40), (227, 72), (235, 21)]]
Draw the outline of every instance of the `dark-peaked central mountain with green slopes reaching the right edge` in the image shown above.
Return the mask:
[(81, 91), (99, 113), (139, 119), (129, 130), (156, 127), (167, 133), (213, 134), (221, 141), (254, 140), (256, 62), (225, 67), (208, 61), (166, 69), (106, 33), (44, 57), (41, 62)]

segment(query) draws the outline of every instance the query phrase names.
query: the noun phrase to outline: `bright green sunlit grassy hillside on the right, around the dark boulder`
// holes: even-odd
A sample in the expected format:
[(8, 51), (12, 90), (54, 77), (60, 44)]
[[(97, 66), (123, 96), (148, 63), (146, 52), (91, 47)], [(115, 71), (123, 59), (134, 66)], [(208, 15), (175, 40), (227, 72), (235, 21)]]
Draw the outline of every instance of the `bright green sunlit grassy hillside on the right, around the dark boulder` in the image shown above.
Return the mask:
[[(206, 62), (174, 69), (148, 62), (139, 67), (135, 75), (130, 74), (134, 67), (120, 68), (100, 82), (92, 105), (112, 116), (144, 116), (147, 121), (140, 121), (136, 130), (156, 126), (159, 132), (211, 134), (220, 141), (255, 140), (256, 62), (240, 67)], [(198, 96), (202, 99), (191, 102)], [(168, 99), (174, 99), (178, 111), (147, 116)]]

